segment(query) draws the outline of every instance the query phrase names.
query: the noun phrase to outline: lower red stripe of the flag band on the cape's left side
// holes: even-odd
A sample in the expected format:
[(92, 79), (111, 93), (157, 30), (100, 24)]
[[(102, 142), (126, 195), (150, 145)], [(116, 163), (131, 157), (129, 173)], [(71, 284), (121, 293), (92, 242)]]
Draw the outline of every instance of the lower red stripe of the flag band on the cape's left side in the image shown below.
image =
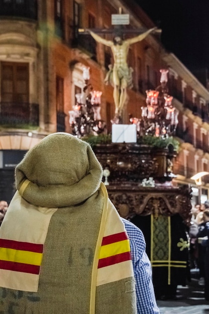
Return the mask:
[(24, 263), (16, 263), (0, 260), (0, 268), (5, 270), (13, 270), (19, 272), (26, 272), (34, 275), (38, 275), (40, 272), (40, 266), (29, 265)]

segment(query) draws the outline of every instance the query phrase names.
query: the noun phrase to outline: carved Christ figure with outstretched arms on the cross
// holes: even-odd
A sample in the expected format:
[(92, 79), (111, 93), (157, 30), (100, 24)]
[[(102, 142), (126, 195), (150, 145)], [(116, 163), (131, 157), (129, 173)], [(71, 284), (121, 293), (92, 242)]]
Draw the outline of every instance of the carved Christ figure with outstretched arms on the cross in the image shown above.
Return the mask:
[[(120, 14), (118, 15), (120, 16)], [(125, 32), (124, 32), (125, 31)], [(128, 31), (128, 32), (127, 32)], [(137, 30), (120, 30), (114, 29), (113, 32), (115, 36), (113, 41), (106, 40), (99, 36), (96, 33), (110, 33), (110, 30), (107, 32), (103, 30), (96, 30), (95, 32), (90, 29), (86, 29), (85, 33), (90, 33), (90, 35), (97, 41), (105, 46), (108, 46), (112, 50), (114, 64), (109, 65), (109, 71), (105, 78), (106, 84), (111, 84), (114, 88), (113, 90), (113, 99), (115, 103), (115, 117), (113, 123), (118, 123), (120, 121), (123, 107), (127, 101), (127, 88), (132, 87), (132, 72), (133, 69), (127, 64), (127, 56), (130, 45), (142, 41), (150, 33), (159, 32), (156, 30), (156, 27), (149, 30), (138, 30), (139, 35), (123, 40), (123, 33), (136, 32)]]

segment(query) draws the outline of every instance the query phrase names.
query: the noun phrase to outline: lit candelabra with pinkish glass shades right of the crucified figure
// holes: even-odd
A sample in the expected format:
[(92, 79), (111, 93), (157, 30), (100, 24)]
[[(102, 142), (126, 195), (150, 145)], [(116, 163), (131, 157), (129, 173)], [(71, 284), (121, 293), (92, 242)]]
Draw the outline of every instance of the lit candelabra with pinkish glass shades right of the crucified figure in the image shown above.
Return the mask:
[(130, 118), (137, 125), (139, 136), (153, 135), (166, 138), (175, 134), (178, 110), (172, 106), (173, 97), (168, 93), (168, 70), (160, 70), (160, 85), (146, 91), (146, 105), (141, 107), (141, 119)]

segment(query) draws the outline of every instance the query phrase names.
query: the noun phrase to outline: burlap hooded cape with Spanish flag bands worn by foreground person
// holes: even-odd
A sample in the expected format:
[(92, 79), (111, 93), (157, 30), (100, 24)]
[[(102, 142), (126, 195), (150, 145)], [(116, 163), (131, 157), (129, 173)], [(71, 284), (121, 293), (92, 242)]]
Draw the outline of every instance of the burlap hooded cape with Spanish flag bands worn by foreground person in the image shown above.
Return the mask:
[(48, 135), (15, 173), (0, 228), (0, 311), (136, 313), (129, 240), (90, 145)]

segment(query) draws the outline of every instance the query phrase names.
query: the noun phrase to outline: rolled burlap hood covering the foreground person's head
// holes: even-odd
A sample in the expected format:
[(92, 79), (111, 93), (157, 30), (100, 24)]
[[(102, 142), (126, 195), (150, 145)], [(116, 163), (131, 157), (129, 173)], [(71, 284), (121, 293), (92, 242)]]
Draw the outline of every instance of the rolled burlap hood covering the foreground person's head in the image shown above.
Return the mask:
[(66, 207), (84, 202), (99, 189), (102, 167), (87, 142), (59, 132), (30, 149), (15, 174), (17, 190), (29, 203)]

